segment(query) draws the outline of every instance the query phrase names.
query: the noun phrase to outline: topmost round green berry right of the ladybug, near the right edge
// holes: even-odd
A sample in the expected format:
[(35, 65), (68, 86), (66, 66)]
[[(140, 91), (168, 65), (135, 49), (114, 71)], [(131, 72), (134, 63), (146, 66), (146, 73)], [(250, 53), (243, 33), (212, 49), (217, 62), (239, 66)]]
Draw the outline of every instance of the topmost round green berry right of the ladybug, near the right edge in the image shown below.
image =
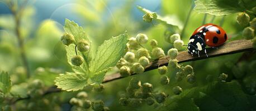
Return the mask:
[(245, 12), (238, 13), (238, 16), (236, 16), (236, 22), (238, 22), (240, 26), (247, 26), (249, 24), (249, 21), (250, 16)]

